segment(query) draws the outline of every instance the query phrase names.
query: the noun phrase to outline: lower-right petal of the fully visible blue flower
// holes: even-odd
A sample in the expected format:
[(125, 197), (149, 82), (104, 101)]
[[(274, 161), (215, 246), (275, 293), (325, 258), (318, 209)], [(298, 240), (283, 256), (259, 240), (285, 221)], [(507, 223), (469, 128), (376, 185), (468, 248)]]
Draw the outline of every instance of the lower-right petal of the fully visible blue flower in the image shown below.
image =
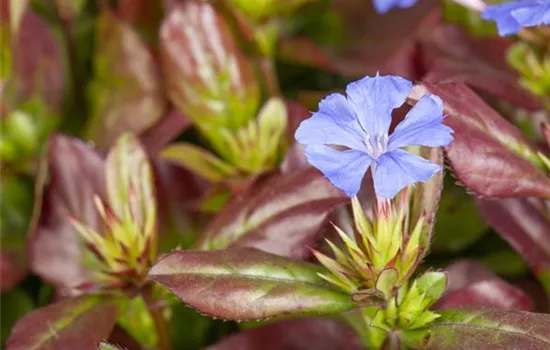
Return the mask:
[(374, 170), (374, 191), (380, 197), (393, 198), (415, 182), (426, 182), (441, 167), (417, 155), (398, 149), (383, 154)]

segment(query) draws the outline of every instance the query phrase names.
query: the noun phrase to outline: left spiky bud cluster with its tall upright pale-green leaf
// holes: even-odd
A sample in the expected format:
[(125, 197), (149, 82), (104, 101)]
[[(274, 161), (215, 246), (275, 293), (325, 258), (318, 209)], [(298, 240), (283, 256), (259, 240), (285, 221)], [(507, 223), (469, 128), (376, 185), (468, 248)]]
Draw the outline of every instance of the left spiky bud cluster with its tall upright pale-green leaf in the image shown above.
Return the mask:
[(139, 286), (157, 255), (153, 175), (134, 136), (121, 136), (108, 154), (105, 183), (106, 203), (94, 198), (102, 232), (70, 218), (92, 257), (92, 277), (80, 286), (83, 291)]

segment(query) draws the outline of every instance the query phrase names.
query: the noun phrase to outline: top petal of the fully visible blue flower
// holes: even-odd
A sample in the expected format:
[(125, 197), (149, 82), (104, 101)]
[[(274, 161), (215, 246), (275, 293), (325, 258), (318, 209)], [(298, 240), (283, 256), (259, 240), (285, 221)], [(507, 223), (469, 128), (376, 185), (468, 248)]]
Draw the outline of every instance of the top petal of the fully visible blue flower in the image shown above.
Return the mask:
[(388, 133), (392, 110), (405, 102), (411, 89), (410, 81), (386, 75), (353, 82), (346, 94), (363, 129), (374, 136)]

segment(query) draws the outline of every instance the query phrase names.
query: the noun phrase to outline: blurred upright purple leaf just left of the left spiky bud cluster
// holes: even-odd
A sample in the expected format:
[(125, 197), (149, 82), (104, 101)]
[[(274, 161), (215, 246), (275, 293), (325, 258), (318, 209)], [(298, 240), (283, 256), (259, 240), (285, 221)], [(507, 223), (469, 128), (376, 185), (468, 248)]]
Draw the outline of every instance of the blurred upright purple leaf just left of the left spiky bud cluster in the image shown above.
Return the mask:
[(40, 277), (62, 289), (71, 288), (87, 281), (88, 273), (82, 264), (82, 241), (67, 218), (100, 227), (93, 196), (104, 197), (104, 161), (84, 142), (54, 135), (47, 163), (50, 179), (42, 205), (33, 214), (37, 224), (29, 232), (29, 260)]

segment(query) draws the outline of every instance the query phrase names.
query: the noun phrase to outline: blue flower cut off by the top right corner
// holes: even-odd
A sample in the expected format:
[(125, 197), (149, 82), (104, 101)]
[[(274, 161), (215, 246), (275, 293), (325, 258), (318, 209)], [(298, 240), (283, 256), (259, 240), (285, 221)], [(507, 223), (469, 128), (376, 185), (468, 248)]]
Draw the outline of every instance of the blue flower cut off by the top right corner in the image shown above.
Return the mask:
[(550, 0), (511, 1), (491, 5), (481, 14), (497, 23), (501, 36), (515, 34), (524, 27), (550, 24)]

